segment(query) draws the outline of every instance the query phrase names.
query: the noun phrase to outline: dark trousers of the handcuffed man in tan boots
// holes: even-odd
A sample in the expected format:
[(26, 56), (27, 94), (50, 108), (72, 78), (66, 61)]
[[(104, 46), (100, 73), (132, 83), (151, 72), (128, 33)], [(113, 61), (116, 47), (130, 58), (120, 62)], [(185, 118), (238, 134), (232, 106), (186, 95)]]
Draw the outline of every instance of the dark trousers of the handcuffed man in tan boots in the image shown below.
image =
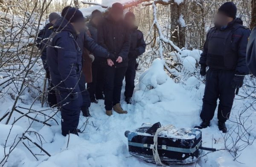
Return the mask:
[(113, 105), (120, 102), (122, 81), (127, 67), (105, 67), (105, 109), (112, 110)]

